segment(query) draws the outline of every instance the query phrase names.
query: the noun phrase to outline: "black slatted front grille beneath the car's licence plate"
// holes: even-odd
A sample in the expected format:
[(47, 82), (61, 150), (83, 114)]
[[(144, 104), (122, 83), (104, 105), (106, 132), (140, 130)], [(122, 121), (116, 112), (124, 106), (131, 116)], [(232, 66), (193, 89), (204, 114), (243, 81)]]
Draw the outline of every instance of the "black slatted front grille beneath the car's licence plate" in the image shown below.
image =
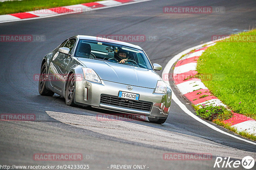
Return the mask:
[(125, 100), (119, 97), (106, 96), (106, 95), (100, 96), (100, 103), (120, 106), (125, 108), (131, 108), (131, 109), (137, 109), (137, 110), (145, 110), (145, 111), (150, 111), (152, 106), (151, 103), (147, 103), (147, 102)]

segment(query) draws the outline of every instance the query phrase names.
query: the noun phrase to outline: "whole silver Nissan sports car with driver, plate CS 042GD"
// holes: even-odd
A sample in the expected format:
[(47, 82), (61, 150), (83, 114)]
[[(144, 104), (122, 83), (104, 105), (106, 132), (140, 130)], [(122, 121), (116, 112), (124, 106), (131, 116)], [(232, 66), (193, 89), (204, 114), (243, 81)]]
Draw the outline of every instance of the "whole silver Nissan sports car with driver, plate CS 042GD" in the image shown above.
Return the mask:
[(155, 72), (140, 46), (76, 35), (44, 56), (40, 95), (63, 96), (69, 106), (82, 105), (146, 116), (163, 124), (172, 91)]

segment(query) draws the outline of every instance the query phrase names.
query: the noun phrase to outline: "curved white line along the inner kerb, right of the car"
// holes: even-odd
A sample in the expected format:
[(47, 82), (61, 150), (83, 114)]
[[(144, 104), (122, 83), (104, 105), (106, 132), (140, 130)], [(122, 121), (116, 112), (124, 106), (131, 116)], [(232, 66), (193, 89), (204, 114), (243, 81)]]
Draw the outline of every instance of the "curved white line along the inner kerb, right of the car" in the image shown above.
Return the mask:
[[(169, 74), (169, 72), (170, 72), (170, 70), (171, 70), (171, 68), (172, 68), (172, 65), (173, 65), (183, 54), (187, 54), (187, 53), (189, 53), (189, 52), (190, 52), (191, 50), (193, 50), (193, 49), (197, 49), (197, 48), (199, 48), (199, 47), (202, 47), (202, 46), (204, 46), (204, 45), (208, 45), (208, 44), (211, 44), (211, 43), (213, 43), (213, 42), (210, 41), (210, 42), (207, 42), (207, 43), (198, 45), (198, 46), (194, 46), (194, 47), (192, 47), (192, 48), (189, 48), (189, 49), (187, 49), (187, 50), (185, 50), (185, 51), (182, 51), (182, 52), (180, 52), (179, 54), (175, 55), (175, 56), (166, 64), (166, 66), (164, 67), (164, 70), (163, 70), (163, 73), (162, 73), (162, 77), (163, 77), (165, 74)], [(170, 84), (169, 81), (167, 81), (166, 83)], [(172, 91), (173, 91), (173, 90), (172, 90)], [(229, 134), (229, 133), (227, 133), (227, 132), (225, 132), (225, 131), (222, 131), (222, 130), (220, 130), (219, 128), (213, 126), (212, 124), (209, 124), (209, 123), (205, 122), (203, 119), (197, 117), (197, 116), (194, 115), (190, 110), (188, 110), (188, 108), (187, 108), (183, 103), (180, 102), (180, 100), (177, 98), (177, 96), (175, 96), (174, 93), (172, 93), (172, 100), (173, 100), (175, 103), (177, 103), (177, 104), (179, 105), (180, 109), (182, 109), (182, 110), (183, 110), (185, 113), (187, 113), (189, 116), (191, 116), (191, 117), (193, 117), (194, 119), (196, 119), (198, 122), (200, 122), (200, 123), (202, 123), (202, 124), (205, 124), (206, 126), (212, 128), (213, 130), (218, 131), (218, 132), (220, 132), (220, 133), (222, 133), (222, 134), (225, 134), (225, 135), (228, 135), (228, 136), (230, 136), (230, 137), (233, 137), (233, 138), (242, 140), (242, 141), (247, 142), (247, 143), (250, 143), (250, 144), (252, 144), (252, 145), (256, 145), (256, 143), (254, 143), (254, 142), (252, 142), (252, 141), (249, 141), (249, 140), (246, 140), (246, 139), (243, 139), (243, 138), (239, 138), (239, 137), (237, 137), (237, 136), (235, 136), (235, 135), (232, 135), (232, 134)]]

